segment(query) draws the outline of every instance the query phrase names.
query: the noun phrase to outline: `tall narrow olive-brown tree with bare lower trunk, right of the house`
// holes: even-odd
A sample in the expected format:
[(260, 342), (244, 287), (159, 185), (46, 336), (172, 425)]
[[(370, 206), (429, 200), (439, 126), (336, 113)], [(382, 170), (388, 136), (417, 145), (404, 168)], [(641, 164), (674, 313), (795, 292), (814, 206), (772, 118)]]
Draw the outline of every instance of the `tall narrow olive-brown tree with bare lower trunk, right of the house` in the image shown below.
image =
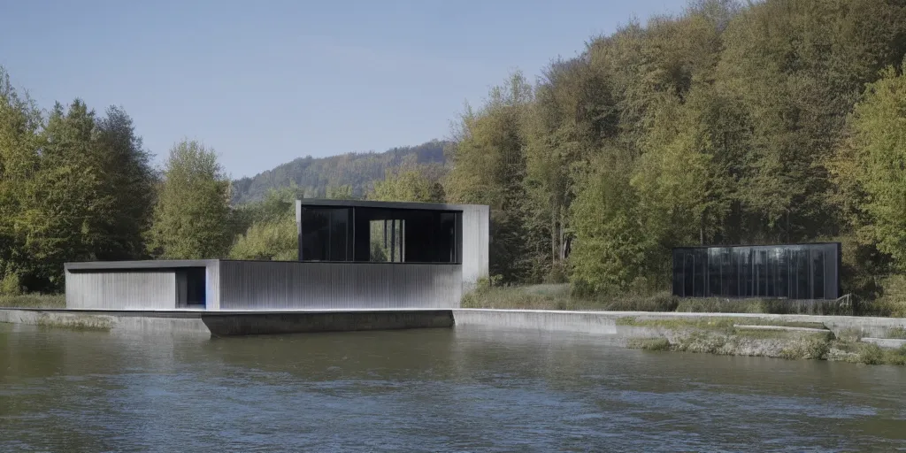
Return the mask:
[(535, 88), (525, 121), (526, 228), (548, 250), (535, 254), (535, 275), (564, 277), (575, 187), (602, 142), (615, 136), (615, 113), (612, 87), (584, 58), (554, 62)]

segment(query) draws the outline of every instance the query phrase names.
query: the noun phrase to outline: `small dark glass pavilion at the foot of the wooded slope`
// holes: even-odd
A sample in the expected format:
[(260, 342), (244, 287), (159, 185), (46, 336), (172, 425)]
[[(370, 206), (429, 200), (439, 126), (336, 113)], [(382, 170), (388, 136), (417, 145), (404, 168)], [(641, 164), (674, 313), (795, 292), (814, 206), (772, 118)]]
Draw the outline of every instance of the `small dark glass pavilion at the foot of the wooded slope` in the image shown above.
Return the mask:
[(840, 244), (673, 249), (673, 294), (680, 297), (836, 299)]

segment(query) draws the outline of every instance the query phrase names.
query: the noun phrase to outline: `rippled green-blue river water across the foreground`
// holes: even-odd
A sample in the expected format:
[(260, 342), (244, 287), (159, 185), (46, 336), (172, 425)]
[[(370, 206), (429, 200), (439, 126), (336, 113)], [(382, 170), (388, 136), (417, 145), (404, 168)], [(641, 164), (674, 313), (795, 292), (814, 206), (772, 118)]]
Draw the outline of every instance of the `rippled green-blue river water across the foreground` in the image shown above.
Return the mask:
[(0, 451), (906, 450), (906, 369), (431, 330), (0, 323)]

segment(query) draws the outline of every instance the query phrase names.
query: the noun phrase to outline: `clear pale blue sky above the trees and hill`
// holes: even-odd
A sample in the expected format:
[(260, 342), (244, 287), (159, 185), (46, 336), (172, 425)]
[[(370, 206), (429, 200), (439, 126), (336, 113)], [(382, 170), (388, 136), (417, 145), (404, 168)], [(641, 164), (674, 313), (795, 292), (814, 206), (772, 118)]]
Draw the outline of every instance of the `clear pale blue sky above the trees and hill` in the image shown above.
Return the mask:
[(182, 138), (233, 177), (448, 137), (465, 101), (685, 0), (0, 0), (0, 65), (44, 109), (120, 105), (160, 162)]

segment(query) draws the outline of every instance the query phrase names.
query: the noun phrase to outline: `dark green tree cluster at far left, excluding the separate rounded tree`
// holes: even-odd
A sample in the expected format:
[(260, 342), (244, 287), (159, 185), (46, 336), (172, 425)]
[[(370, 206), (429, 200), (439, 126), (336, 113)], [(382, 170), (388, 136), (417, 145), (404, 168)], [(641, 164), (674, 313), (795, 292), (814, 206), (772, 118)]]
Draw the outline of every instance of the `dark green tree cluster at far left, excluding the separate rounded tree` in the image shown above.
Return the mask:
[(146, 255), (157, 175), (132, 120), (44, 114), (0, 71), (0, 289), (59, 290), (63, 263)]

